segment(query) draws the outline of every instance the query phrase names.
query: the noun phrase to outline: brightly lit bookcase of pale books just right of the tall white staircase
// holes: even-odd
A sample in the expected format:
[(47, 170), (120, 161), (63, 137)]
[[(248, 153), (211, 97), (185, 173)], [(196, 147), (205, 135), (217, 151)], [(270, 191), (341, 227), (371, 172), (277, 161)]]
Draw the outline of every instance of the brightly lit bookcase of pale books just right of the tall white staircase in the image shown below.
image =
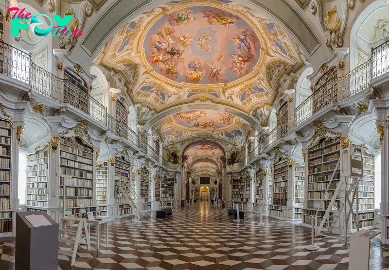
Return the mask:
[[(363, 179), (358, 184), (358, 225), (359, 228), (375, 226), (374, 208), (374, 154), (363, 151)], [(356, 159), (360, 159), (360, 156)], [(354, 192), (352, 192), (353, 194)], [(356, 200), (356, 198), (355, 198)], [(354, 213), (356, 204), (353, 206)], [(354, 220), (351, 228), (356, 229)]]

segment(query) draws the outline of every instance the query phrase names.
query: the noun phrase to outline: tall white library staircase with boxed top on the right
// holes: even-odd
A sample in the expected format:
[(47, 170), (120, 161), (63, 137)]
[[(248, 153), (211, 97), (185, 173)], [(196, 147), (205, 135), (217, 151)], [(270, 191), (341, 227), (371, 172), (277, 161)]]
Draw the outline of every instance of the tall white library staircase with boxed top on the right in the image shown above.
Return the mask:
[[(363, 178), (363, 149), (360, 146), (351, 146), (343, 148), (340, 150), (340, 159), (336, 164), (336, 168), (331, 177), (331, 180), (328, 183), (327, 189), (322, 196), (318, 210), (316, 211), (315, 220), (317, 220), (315, 234), (316, 236), (320, 235), (323, 227), (327, 228), (329, 233), (332, 233), (341, 213), (345, 213), (343, 227), (345, 229), (345, 239), (347, 238), (347, 226), (352, 215), (356, 230), (359, 230), (358, 227), (358, 200), (356, 200), (356, 214), (354, 214), (353, 204), (355, 197), (357, 198), (358, 194), (358, 184), (359, 181)], [(336, 185), (334, 194), (331, 197), (331, 200), (325, 209), (325, 214), (321, 218), (318, 216), (319, 211), (324, 211), (321, 208), (329, 189), (331, 183), (334, 180), (336, 171), (340, 166), (340, 180)], [(350, 200), (350, 198), (352, 198)], [(336, 207), (337, 206), (337, 207)], [(331, 214), (331, 215), (330, 215)], [(340, 224), (340, 222), (339, 222)], [(315, 224), (312, 224), (314, 226)], [(340, 226), (339, 226), (340, 227)]]

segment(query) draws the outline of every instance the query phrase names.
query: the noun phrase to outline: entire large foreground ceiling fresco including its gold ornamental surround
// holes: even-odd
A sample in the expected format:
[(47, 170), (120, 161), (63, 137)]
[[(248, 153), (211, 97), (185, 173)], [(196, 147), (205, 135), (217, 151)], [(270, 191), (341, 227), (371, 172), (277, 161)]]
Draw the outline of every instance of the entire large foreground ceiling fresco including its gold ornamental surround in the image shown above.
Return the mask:
[(258, 11), (230, 0), (185, 0), (128, 22), (94, 62), (106, 70), (111, 87), (157, 113), (201, 101), (249, 114), (290, 89), (283, 81), (300, 72), (299, 53)]

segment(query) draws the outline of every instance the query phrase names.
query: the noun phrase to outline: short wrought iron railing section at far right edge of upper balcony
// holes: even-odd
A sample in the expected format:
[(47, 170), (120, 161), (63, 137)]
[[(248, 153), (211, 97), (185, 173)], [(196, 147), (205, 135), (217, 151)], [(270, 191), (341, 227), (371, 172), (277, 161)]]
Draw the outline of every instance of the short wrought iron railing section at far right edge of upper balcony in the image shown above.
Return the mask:
[(389, 40), (371, 50), (371, 79), (389, 72)]

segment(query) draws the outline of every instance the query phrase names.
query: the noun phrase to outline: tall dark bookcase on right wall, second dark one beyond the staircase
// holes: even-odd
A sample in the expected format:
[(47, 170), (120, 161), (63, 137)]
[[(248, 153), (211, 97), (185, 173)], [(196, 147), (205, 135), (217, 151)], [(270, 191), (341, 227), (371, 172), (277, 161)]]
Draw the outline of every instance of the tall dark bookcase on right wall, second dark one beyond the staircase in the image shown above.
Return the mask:
[(270, 215), (283, 217), (283, 207), (286, 206), (288, 195), (288, 161), (281, 160), (274, 165), (273, 204), (270, 205)]

